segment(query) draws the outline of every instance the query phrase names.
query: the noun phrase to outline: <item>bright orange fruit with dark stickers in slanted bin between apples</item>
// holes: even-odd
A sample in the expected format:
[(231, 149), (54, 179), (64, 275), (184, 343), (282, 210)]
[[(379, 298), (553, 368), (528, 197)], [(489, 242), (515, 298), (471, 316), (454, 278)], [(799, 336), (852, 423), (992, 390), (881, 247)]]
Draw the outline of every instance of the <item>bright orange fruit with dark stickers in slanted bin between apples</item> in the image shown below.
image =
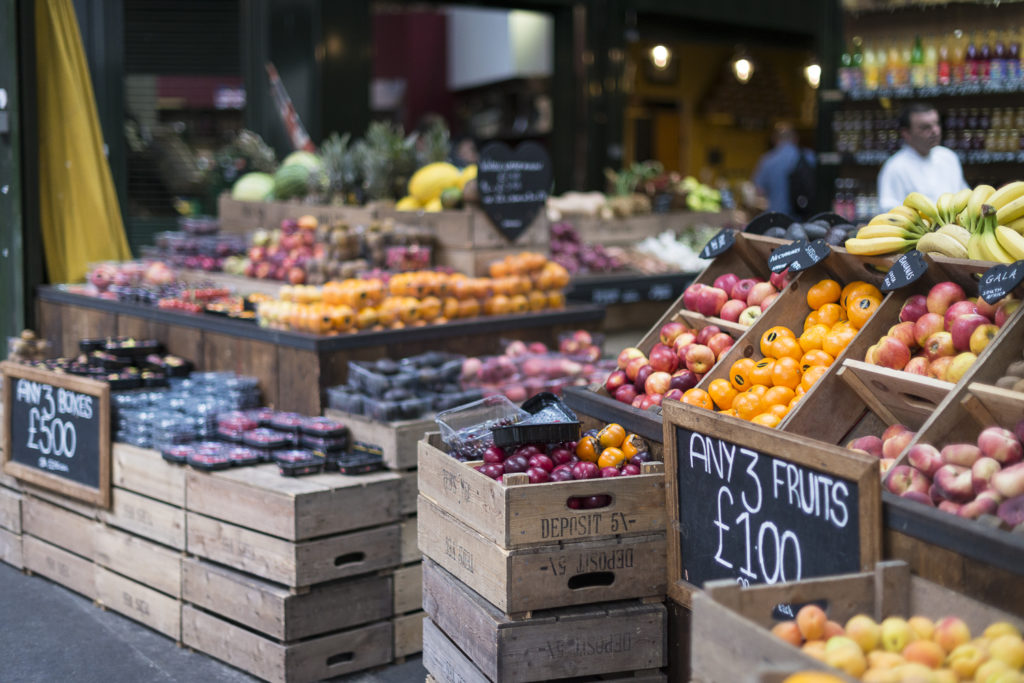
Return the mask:
[(775, 427), (828, 371), (882, 303), (882, 292), (857, 281), (843, 287), (822, 280), (807, 291), (811, 312), (803, 332), (776, 326), (761, 335), (761, 358), (740, 358), (729, 377), (696, 387), (682, 401), (765, 427)]

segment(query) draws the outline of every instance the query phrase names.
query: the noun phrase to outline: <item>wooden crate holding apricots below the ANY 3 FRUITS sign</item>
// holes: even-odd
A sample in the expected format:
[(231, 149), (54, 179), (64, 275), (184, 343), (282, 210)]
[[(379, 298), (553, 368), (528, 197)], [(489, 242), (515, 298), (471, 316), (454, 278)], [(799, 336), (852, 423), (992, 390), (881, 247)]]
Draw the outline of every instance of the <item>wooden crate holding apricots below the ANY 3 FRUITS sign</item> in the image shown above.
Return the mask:
[(840, 624), (862, 613), (876, 622), (893, 615), (956, 616), (972, 633), (994, 622), (1024, 627), (1019, 617), (912, 575), (904, 562), (880, 562), (873, 572), (773, 586), (713, 582), (693, 599), (692, 680), (760, 681), (766, 672), (825, 671), (856, 681), (770, 632), (774, 624), (792, 618), (776, 616), (783, 609), (796, 613), (812, 602), (823, 605), (828, 618)]

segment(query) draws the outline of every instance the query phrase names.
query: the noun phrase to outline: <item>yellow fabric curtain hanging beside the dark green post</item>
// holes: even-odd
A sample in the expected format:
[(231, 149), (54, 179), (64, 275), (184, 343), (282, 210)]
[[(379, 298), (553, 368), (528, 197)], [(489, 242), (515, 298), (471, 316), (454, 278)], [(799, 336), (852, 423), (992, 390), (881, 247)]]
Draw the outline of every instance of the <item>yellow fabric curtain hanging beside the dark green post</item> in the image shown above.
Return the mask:
[(37, 0), (39, 203), (50, 282), (131, 258), (72, 0)]

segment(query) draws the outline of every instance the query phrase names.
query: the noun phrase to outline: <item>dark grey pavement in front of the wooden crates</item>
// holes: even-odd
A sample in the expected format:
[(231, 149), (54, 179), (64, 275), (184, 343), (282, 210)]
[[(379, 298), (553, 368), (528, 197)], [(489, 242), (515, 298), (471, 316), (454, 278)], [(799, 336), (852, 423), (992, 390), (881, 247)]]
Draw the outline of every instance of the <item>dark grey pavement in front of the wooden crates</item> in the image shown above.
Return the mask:
[[(420, 657), (346, 683), (421, 682)], [(187, 648), (42, 577), (0, 562), (0, 680), (4, 683), (251, 683), (258, 679)]]

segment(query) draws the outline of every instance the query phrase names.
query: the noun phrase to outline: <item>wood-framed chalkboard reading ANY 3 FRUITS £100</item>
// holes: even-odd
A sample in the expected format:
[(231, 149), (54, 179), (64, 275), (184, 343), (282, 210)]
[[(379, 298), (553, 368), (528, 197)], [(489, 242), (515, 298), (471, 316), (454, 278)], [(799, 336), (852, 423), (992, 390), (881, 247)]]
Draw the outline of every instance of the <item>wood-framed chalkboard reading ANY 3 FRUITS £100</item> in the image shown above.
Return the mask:
[(878, 459), (664, 403), (670, 596), (865, 570), (881, 555)]

